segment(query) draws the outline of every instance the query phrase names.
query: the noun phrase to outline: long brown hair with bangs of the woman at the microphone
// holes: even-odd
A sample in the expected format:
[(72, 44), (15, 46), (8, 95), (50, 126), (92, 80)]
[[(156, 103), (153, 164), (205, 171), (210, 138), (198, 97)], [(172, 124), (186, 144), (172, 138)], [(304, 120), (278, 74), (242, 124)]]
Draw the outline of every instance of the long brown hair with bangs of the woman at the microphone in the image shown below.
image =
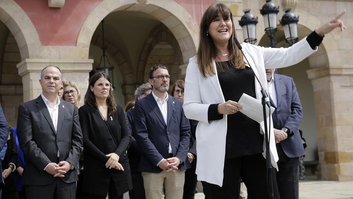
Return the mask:
[[(211, 36), (207, 35), (208, 28), (211, 22), (217, 18), (218, 13), (221, 13), (224, 20), (232, 21), (232, 29), (233, 33), (231, 38), (228, 41), (228, 50), (229, 50), (229, 62), (236, 69), (244, 69), (245, 61), (241, 51), (238, 49), (235, 44), (234, 37), (236, 37), (233, 15), (231, 10), (222, 3), (217, 3), (211, 5), (202, 16), (200, 23), (200, 41), (199, 47), (197, 50), (197, 63), (199, 66), (199, 70), (204, 78), (207, 78), (207, 75), (212, 76), (216, 74), (214, 71), (212, 61), (219, 56), (219, 51), (217, 50), (213, 39)], [(225, 69), (229, 69), (228, 64), (226, 62), (219, 62), (216, 64), (217, 70), (224, 71)]]

